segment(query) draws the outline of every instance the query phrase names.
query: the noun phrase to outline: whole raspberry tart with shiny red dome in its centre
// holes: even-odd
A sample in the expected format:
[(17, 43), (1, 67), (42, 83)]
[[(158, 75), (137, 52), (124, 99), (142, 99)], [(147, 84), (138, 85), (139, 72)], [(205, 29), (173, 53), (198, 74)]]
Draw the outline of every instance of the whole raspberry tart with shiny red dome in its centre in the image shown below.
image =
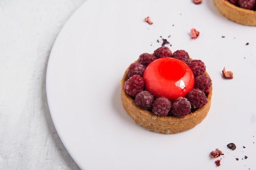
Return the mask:
[(141, 54), (134, 63), (121, 80), (121, 100), (137, 124), (173, 134), (192, 129), (207, 116), (212, 84), (201, 60), (162, 46), (153, 54)]

